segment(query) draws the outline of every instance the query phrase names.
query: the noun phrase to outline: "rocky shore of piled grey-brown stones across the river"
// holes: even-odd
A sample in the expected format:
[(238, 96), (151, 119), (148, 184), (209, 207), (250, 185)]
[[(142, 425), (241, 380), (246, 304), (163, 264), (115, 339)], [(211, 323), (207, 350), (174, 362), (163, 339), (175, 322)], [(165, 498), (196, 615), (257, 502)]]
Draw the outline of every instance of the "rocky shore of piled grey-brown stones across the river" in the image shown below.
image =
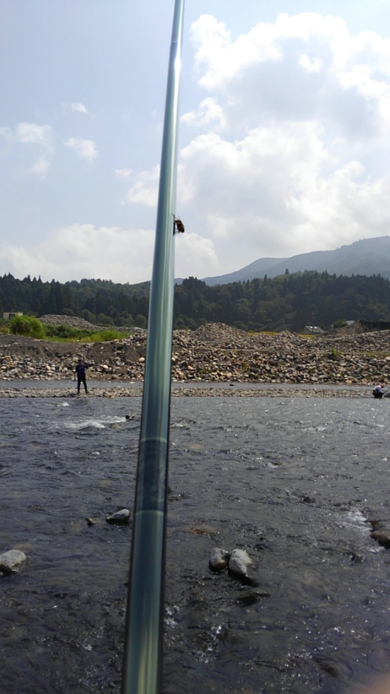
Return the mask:
[[(50, 396), (69, 396), (74, 393), (74, 370), (79, 356), (89, 366), (89, 380), (100, 382), (100, 387), (92, 389), (91, 394), (107, 396), (105, 384), (116, 380), (120, 382), (115, 389), (117, 396), (139, 395), (146, 337), (146, 330), (141, 329), (134, 330), (130, 337), (105, 343), (63, 343), (0, 335), (0, 382), (3, 382), (0, 396), (42, 397), (46, 391)], [(20, 384), (21, 380), (68, 381), (69, 390), (55, 389), (54, 383), (47, 384), (47, 389), (7, 387), (6, 382)], [(139, 383), (139, 388), (129, 388), (130, 382)], [(286, 384), (291, 385), (292, 391), (297, 385), (318, 386), (322, 395), (328, 394), (323, 386), (333, 385), (337, 386), (335, 392), (342, 396), (348, 391), (358, 395), (356, 389), (340, 387), (370, 389), (375, 383), (390, 382), (390, 331), (357, 335), (330, 333), (319, 337), (301, 337), (290, 332), (251, 335), (220, 323), (209, 323), (194, 332), (175, 330), (172, 382), (185, 385), (183, 392), (180, 388), (173, 389), (174, 396), (184, 392), (210, 394), (209, 387), (217, 383), (226, 387), (213, 389), (213, 394), (224, 396), (235, 391), (240, 396), (281, 394), (277, 387), (272, 391), (262, 389), (262, 384), (283, 384), (284, 395), (290, 391)], [(197, 387), (190, 388), (193, 384)], [(246, 384), (246, 387), (234, 389), (232, 384)], [(248, 388), (249, 384), (254, 388)]]

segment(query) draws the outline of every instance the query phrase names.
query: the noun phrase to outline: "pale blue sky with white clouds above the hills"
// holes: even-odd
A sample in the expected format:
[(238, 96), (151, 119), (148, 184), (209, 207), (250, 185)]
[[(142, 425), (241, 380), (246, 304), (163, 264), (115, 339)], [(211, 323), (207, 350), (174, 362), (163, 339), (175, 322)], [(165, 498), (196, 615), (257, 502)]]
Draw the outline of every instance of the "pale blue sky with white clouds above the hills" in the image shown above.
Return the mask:
[[(173, 0), (2, 0), (0, 276), (150, 280)], [(187, 0), (175, 277), (390, 234), (390, 0)]]

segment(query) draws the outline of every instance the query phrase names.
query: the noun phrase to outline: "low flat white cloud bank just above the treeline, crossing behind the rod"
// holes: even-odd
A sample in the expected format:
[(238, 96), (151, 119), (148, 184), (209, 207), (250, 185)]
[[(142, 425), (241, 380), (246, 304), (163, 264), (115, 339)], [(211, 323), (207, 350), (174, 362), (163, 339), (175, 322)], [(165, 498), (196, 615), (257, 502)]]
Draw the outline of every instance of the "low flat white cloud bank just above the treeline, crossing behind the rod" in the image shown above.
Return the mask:
[[(188, 274), (200, 277), (220, 271), (215, 249), (208, 239), (195, 233), (180, 235), (176, 250), (180, 269), (184, 268)], [(153, 251), (154, 230), (76, 223), (55, 230), (44, 242), (28, 248), (4, 244), (1, 266), (16, 277), (40, 275), (44, 281), (100, 278), (135, 284), (150, 280)]]

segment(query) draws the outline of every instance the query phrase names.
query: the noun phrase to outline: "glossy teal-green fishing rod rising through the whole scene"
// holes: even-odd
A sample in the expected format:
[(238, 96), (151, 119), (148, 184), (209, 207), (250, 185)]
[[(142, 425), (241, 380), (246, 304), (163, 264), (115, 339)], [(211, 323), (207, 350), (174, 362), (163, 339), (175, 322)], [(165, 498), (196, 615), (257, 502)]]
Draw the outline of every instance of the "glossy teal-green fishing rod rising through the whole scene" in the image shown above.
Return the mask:
[(161, 688), (179, 74), (184, 0), (175, 0), (134, 502), (122, 694)]

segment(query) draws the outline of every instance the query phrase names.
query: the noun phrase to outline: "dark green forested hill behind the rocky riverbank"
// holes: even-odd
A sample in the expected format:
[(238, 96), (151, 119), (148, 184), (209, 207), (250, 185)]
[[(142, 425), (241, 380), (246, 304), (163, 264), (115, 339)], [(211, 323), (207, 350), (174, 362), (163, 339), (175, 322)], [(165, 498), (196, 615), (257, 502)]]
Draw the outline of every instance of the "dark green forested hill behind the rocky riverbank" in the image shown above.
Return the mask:
[[(120, 285), (110, 280), (42, 282), (12, 275), (0, 278), (0, 316), (80, 316), (98, 325), (146, 327), (149, 283)], [(390, 321), (390, 282), (380, 276), (335, 276), (302, 272), (273, 279), (209, 287), (188, 278), (175, 287), (174, 328), (227, 323), (243, 330), (291, 330), (304, 325), (330, 328), (336, 321)]]

